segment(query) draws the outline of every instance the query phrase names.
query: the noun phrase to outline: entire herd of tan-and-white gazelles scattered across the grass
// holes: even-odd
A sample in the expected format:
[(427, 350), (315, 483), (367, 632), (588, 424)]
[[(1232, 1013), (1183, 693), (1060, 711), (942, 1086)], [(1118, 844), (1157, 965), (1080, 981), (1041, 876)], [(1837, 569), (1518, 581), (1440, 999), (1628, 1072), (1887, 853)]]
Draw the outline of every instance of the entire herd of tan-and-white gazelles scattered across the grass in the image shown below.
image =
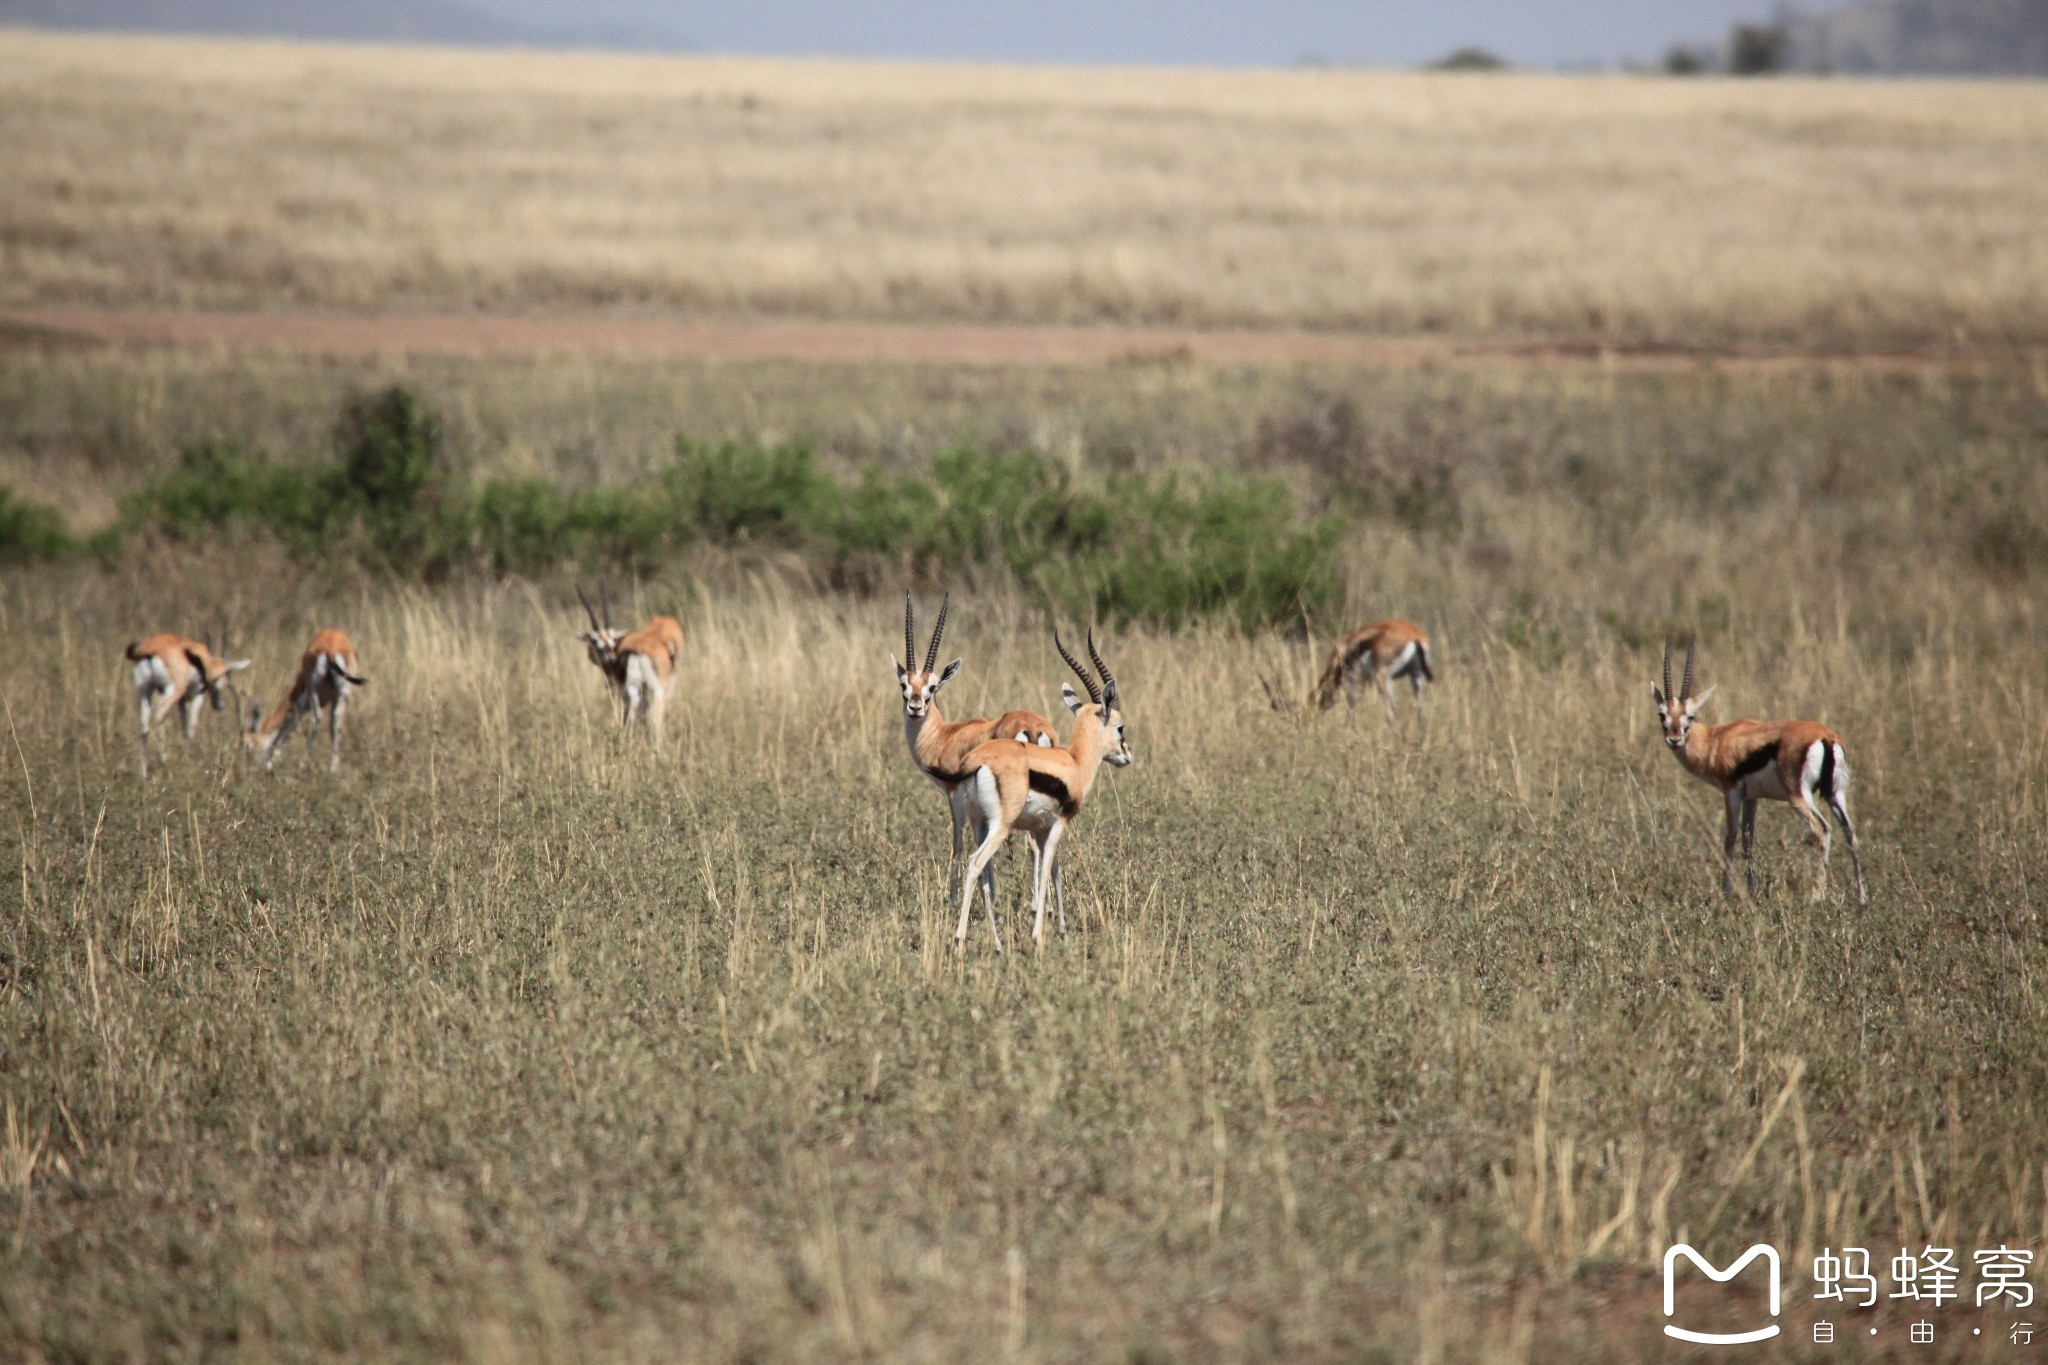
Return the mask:
[[(639, 724), (659, 739), (662, 718), (676, 688), (676, 665), (682, 659), (682, 626), (674, 616), (651, 616), (639, 630), (612, 626), (610, 593), (598, 585), (600, 606), (592, 606), (582, 587), (575, 589), (590, 618), (590, 630), (578, 634), (590, 661), (604, 675), (606, 688), (621, 704), (625, 724)], [(1073, 712), (1073, 733), (1059, 743), (1053, 722), (1034, 710), (1008, 710), (1001, 716), (952, 720), (938, 714), (938, 692), (961, 671), (961, 659), (938, 669), (938, 649), (946, 634), (950, 598), (938, 608), (932, 641), (918, 667), (918, 624), (909, 593), (903, 593), (903, 661), (897, 663), (897, 684), (903, 690), (903, 741), (911, 761), (946, 794), (952, 821), (952, 862), (948, 896), (961, 905), (954, 941), (967, 941), (975, 888), (987, 905), (989, 937), (1004, 952), (1001, 927), (995, 921), (993, 857), (1012, 831), (1024, 831), (1032, 841), (1030, 898), (1032, 941), (1044, 943), (1044, 902), (1051, 894), (1059, 933), (1067, 933), (1065, 886), (1059, 872), (1059, 841), (1081, 814), (1087, 794), (1104, 763), (1128, 767), (1130, 743), (1124, 737), (1120, 690), (1116, 675), (1087, 636), (1083, 665), (1053, 632), (1053, 647), (1087, 690), (1083, 700), (1061, 684), (1061, 700)], [(152, 634), (127, 647), (133, 665), (135, 696), (141, 714), (141, 772), (150, 776), (150, 729), (162, 724), (178, 708), (184, 737), (193, 737), (201, 706), (219, 710), (227, 694), (242, 696), (233, 675), (250, 665), (229, 661), (225, 636), (219, 653), (207, 641), (182, 634)], [(1747, 886), (1755, 892), (1755, 825), (1757, 802), (1782, 800), (1806, 825), (1821, 845), (1821, 868), (1812, 896), (1827, 894), (1829, 825), (1823, 808), (1833, 812), (1849, 839), (1849, 860), (1855, 868), (1855, 900), (1868, 905), (1864, 890), (1864, 860), (1855, 847), (1855, 825), (1849, 819), (1849, 761), (1841, 735), (1817, 720), (1729, 720), (1700, 724), (1698, 712), (1708, 688), (1692, 694), (1696, 641), (1686, 645), (1686, 671), (1679, 688), (1671, 688), (1671, 645), (1663, 655), (1663, 688), (1653, 686), (1651, 698), (1663, 726), (1665, 745), (1694, 778), (1716, 788), (1726, 802), (1722, 837), (1720, 886), (1735, 890), (1735, 841), (1741, 833)], [(938, 669), (938, 671), (934, 671)], [(1405, 620), (1380, 620), (1337, 641), (1329, 661), (1309, 692), (1309, 704), (1327, 710), (1337, 692), (1356, 700), (1360, 681), (1376, 684), (1386, 712), (1393, 716), (1395, 681), (1407, 679), (1417, 712), (1421, 686), (1434, 681), (1430, 639)], [(1264, 679), (1262, 679), (1264, 681)], [(311, 757), (319, 716), (328, 716), (330, 772), (342, 765), (342, 712), (350, 688), (365, 677), (356, 671), (356, 647), (340, 630), (319, 630), (299, 657), (291, 688), (268, 712), (250, 702), (242, 720), (244, 745), (256, 767), (268, 767), (293, 729), (311, 714), (305, 745)], [(1272, 684), (1266, 692), (1274, 706), (1286, 704)], [(963, 835), (971, 835), (965, 839)]]

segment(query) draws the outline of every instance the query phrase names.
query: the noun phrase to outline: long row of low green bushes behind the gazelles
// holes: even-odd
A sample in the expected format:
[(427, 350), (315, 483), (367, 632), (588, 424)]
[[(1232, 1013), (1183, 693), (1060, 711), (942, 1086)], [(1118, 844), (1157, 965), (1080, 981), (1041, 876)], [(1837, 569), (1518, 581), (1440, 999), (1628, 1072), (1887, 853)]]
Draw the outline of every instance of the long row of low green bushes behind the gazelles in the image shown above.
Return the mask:
[(975, 446), (838, 479), (803, 442), (678, 440), (633, 483), (465, 487), (438, 417), (406, 389), (348, 403), (334, 450), (328, 465), (281, 465), (195, 446), (127, 499), (123, 526), (172, 538), (246, 526), (299, 555), (426, 577), (653, 569), (692, 544), (764, 544), (840, 585), (991, 573), (1065, 612), (1167, 626), (1298, 620), (1337, 596), (1337, 522), (1305, 520), (1272, 479), (1124, 473), (1092, 485), (1044, 454)]

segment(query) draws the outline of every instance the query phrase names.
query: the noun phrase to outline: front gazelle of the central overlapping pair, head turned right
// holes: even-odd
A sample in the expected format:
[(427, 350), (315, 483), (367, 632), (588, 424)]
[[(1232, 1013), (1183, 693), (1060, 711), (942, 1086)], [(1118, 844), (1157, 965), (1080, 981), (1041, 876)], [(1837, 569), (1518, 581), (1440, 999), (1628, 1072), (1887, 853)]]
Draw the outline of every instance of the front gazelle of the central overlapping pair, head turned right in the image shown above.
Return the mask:
[[(995, 857), (995, 849), (1001, 847), (1012, 829), (1030, 833), (1036, 845), (1030, 937), (1034, 943), (1044, 943), (1044, 894), (1049, 884), (1057, 886), (1059, 882), (1059, 839), (1067, 825), (1081, 814), (1081, 804), (1096, 786), (1102, 763), (1126, 767), (1133, 757), (1130, 743), (1124, 739), (1124, 716), (1118, 710), (1116, 675), (1096, 653), (1094, 632), (1087, 636), (1087, 657), (1102, 673), (1100, 686), (1067, 653), (1057, 630), (1053, 645), (1087, 688), (1087, 702), (1081, 702), (1073, 688), (1061, 684), (1061, 696), (1067, 700), (1067, 710), (1073, 712), (1073, 737), (1053, 749), (995, 739), (967, 755), (967, 810), (987, 833), (967, 864), (967, 884), (961, 888), (961, 925), (952, 937), (963, 945), (967, 943), (967, 917), (975, 905), (973, 882)], [(1061, 907), (1061, 931), (1065, 931), (1065, 907)], [(995, 952), (1004, 952), (993, 905), (989, 907), (989, 937), (995, 939)]]

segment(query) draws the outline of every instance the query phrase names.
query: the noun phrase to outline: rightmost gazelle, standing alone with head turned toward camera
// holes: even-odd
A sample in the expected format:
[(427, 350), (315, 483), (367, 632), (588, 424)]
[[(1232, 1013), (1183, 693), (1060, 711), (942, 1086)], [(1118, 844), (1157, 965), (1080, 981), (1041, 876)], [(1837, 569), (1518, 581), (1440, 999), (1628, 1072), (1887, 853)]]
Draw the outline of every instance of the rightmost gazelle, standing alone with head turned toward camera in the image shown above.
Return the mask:
[[(1757, 890), (1757, 802), (1782, 800), (1798, 812), (1808, 833), (1821, 841), (1821, 876), (1812, 898), (1827, 894), (1827, 808), (1849, 835), (1849, 862), (1855, 866), (1855, 902), (1870, 905), (1864, 894), (1864, 855), (1855, 849), (1855, 825), (1849, 823), (1849, 759), (1841, 751), (1841, 735), (1819, 720), (1729, 720), (1726, 724), (1696, 724), (1700, 706), (1714, 696), (1708, 688), (1692, 694), (1692, 659), (1698, 636), (1686, 645), (1686, 679), (1671, 692), (1671, 643), (1665, 641), (1665, 686), (1651, 686), (1657, 718), (1663, 722), (1665, 745), (1700, 782), (1716, 788), (1729, 802), (1729, 825), (1720, 841), (1720, 890), (1735, 892), (1735, 827), (1743, 827), (1743, 872), (1749, 892)], [(1714, 684), (1716, 688), (1720, 684)]]

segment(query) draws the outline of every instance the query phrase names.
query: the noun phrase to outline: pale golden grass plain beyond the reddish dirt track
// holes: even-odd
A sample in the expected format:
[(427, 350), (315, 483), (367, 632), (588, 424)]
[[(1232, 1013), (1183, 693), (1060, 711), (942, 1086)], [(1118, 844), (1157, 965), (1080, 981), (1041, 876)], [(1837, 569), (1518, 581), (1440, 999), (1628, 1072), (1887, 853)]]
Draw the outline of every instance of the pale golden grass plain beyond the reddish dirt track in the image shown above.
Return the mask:
[(0, 33), (0, 301), (2048, 338), (2032, 84)]

